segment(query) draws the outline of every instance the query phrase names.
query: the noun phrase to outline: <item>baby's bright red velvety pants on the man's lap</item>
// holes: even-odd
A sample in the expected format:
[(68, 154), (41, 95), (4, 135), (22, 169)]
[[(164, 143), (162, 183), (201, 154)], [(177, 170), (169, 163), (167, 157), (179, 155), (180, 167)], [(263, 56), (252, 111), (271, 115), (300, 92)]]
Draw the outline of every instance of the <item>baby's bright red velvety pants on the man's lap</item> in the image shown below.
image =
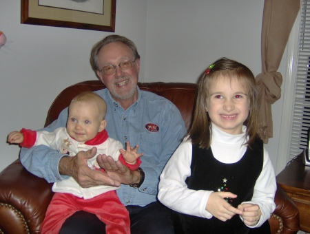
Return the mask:
[(130, 233), (129, 213), (118, 199), (116, 191), (109, 191), (86, 200), (70, 193), (55, 193), (45, 213), (41, 233), (59, 233), (65, 220), (76, 211), (94, 213), (105, 223), (105, 231), (108, 234)]

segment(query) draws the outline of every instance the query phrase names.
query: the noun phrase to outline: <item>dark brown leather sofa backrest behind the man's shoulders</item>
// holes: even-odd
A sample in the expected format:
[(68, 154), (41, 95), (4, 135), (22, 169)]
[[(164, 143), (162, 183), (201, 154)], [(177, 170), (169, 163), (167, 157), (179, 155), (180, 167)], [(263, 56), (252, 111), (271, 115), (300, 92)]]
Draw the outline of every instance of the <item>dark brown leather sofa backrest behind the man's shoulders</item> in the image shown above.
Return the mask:
[[(192, 112), (194, 107), (194, 100), (196, 94), (196, 84), (194, 83), (138, 83), (138, 87), (141, 90), (152, 92), (163, 96), (172, 101), (182, 114), (185, 126), (189, 129), (192, 122)], [(63, 91), (56, 97), (52, 103), (48, 116), (46, 117), (45, 126), (50, 125), (56, 118), (58, 118), (60, 112), (70, 105), (70, 101), (74, 96), (85, 91), (96, 91), (104, 89), (105, 85), (101, 81), (83, 81), (75, 85), (71, 85), (63, 89)]]

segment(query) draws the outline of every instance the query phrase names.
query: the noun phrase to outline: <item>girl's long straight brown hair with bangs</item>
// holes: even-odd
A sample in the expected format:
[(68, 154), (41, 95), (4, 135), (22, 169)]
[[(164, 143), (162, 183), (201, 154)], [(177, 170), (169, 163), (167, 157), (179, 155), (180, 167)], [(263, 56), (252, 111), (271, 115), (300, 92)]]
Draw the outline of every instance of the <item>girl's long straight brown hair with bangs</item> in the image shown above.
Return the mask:
[[(212, 65), (210, 66), (212, 67)], [(211, 142), (211, 120), (209, 114), (205, 111), (207, 97), (209, 96), (209, 88), (218, 76), (224, 76), (231, 81), (236, 79), (247, 92), (250, 100), (249, 116), (245, 123), (247, 127), (246, 136), (249, 140), (245, 145), (253, 144), (257, 136), (258, 129), (258, 91), (256, 89), (256, 81), (253, 73), (248, 67), (242, 63), (238, 63), (228, 58), (220, 58), (213, 63), (213, 67), (208, 69), (198, 80), (196, 89), (196, 106), (194, 109), (194, 119), (187, 136), (192, 140), (193, 145), (207, 149)]]

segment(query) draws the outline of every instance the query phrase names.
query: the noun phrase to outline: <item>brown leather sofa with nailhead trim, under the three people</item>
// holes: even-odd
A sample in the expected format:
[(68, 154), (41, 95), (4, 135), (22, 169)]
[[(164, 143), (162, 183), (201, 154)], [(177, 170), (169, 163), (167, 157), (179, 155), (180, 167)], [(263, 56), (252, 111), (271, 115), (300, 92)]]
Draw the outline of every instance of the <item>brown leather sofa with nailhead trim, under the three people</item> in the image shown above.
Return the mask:
[[(196, 85), (193, 83), (138, 83), (142, 90), (164, 96), (174, 103), (188, 128), (192, 119)], [(45, 126), (55, 120), (70, 100), (84, 91), (95, 91), (105, 86), (101, 81), (85, 81), (72, 85), (54, 100)], [(52, 199), (52, 184), (23, 168), (16, 160), (0, 173), (0, 233), (40, 233), (45, 211)], [(271, 233), (297, 233), (299, 214), (296, 205), (278, 187), (276, 210), (269, 219)]]

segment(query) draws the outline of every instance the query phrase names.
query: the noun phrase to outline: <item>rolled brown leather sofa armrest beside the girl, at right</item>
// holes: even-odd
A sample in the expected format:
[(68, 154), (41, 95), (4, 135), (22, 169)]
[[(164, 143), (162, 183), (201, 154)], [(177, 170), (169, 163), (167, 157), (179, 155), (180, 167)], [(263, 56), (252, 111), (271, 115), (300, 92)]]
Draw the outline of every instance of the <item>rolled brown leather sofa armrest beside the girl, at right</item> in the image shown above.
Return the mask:
[(271, 233), (278, 233), (278, 230), (283, 234), (297, 233), (300, 227), (298, 208), (278, 184), (275, 203), (276, 209), (269, 219)]

